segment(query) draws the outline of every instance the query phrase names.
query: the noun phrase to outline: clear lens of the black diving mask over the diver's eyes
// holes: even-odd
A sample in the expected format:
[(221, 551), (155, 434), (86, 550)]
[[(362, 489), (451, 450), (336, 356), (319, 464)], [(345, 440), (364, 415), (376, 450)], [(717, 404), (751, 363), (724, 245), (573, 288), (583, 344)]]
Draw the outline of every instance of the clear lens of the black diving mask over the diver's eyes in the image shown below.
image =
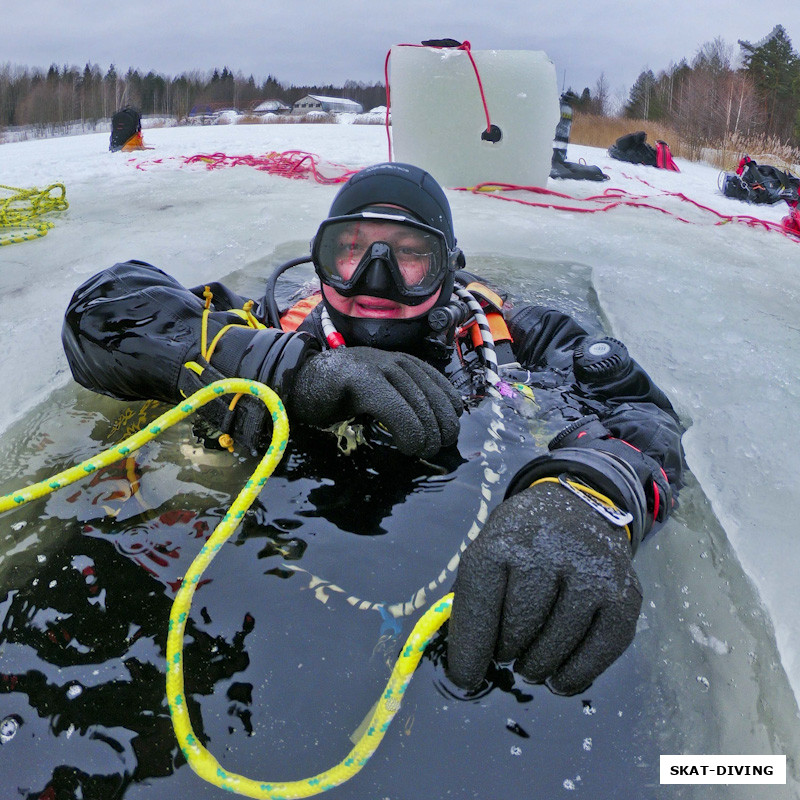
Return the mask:
[(361, 216), (324, 222), (312, 256), (320, 278), (344, 290), (357, 287), (373, 260), (385, 261), (397, 289), (410, 297), (430, 294), (448, 264), (447, 245), (435, 229)]

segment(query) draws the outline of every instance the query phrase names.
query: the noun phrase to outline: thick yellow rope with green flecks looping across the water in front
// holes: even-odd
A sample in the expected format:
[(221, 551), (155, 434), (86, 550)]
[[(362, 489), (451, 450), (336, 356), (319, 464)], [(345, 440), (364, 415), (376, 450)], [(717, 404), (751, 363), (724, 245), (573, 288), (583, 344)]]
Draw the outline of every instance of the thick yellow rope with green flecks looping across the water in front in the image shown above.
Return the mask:
[(0, 513), (12, 508), (18, 508), (31, 500), (44, 497), (63, 486), (68, 486), (81, 478), (85, 478), (98, 469), (127, 458), (142, 445), (158, 436), (163, 430), (180, 422), (198, 408), (223, 394), (249, 394), (258, 397), (264, 402), (272, 413), (272, 441), (261, 462), (234, 500), (228, 513), (225, 514), (192, 562), (172, 604), (169, 633), (167, 635), (167, 700), (172, 717), (172, 726), (175, 730), (178, 744), (189, 765), (201, 778), (209, 783), (229, 792), (235, 792), (247, 797), (267, 798), (268, 800), (312, 797), (352, 778), (378, 748), (389, 724), (400, 708), (403, 694), (411, 681), (414, 670), (419, 664), (428, 642), (450, 617), (453, 595), (446, 595), (439, 600), (428, 609), (414, 626), (364, 733), (355, 747), (339, 764), (312, 778), (296, 781), (253, 780), (222, 769), (214, 756), (200, 744), (189, 721), (183, 683), (183, 634), (186, 628), (186, 620), (189, 617), (192, 597), (201, 575), (222, 545), (239, 527), (245, 512), (258, 497), (286, 449), (289, 437), (286, 411), (280, 398), (269, 387), (242, 378), (227, 378), (212, 383), (179, 403), (175, 408), (162, 414), (146, 429), (128, 437), (115, 447), (81, 464), (70, 467), (52, 478), (0, 497)]

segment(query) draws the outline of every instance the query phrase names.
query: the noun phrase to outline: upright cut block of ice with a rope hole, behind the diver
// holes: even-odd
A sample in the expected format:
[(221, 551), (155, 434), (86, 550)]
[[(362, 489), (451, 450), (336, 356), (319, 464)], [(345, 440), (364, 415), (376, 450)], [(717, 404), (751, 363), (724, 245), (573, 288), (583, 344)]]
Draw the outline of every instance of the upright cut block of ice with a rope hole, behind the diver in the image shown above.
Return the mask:
[(492, 126), (465, 50), (398, 45), (390, 56), (395, 161), (415, 164), (443, 186), (483, 182), (546, 186), (559, 120), (553, 63), (532, 50), (474, 50)]

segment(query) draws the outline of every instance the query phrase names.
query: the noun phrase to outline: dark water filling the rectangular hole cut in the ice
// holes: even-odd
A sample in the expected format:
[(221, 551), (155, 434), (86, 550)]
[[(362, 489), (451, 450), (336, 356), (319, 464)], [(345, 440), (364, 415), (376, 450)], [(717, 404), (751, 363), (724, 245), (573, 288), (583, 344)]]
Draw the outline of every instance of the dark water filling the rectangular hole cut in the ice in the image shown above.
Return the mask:
[[(587, 273), (576, 267), (565, 281), (573, 310), (599, 327)], [(73, 386), (54, 392), (0, 444), (0, 493), (88, 457), (161, 410)], [(429, 600), (449, 589), (447, 564), (480, 507), (492, 419), (485, 406), (471, 411), (457, 451), (435, 463), (381, 444), (348, 456), (329, 434), (293, 432), (276, 475), (205, 573), (187, 627), (193, 726), (225, 769), (293, 780), (346, 755), (421, 613), (395, 619), (361, 601), (402, 606), (431, 583)], [(524, 419), (509, 424), (506, 467), (490, 464), (507, 470), (498, 486), (539, 436)], [(0, 518), (0, 797), (224, 796), (194, 775), (174, 740), (164, 651), (177, 582), (255, 463), (202, 448), (184, 423), (132, 462)], [(636, 642), (585, 694), (556, 697), (497, 667), (465, 695), (447, 680), (442, 632), (377, 753), (330, 796), (740, 796), (660, 787), (658, 757), (737, 752), (720, 748), (742, 726), (738, 752), (787, 752), (774, 642), (691, 476), (659, 537), (637, 557), (646, 596)], [(692, 614), (711, 618), (717, 633), (728, 625), (725, 642), (695, 647)], [(762, 796), (753, 788), (741, 796)], [(794, 796), (768, 788), (765, 797)]]

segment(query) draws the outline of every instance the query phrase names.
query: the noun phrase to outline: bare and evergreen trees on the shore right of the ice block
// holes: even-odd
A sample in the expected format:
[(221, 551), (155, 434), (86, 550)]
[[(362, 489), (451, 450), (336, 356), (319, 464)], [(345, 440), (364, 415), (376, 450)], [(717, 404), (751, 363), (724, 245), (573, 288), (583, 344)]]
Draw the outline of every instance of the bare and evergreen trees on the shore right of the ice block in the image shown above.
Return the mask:
[[(800, 56), (782, 25), (759, 42), (735, 48), (716, 38), (658, 74), (644, 70), (631, 87), (623, 114), (662, 122), (694, 148), (733, 136), (766, 136), (800, 146)], [(608, 87), (601, 76), (576, 108), (604, 113)]]

